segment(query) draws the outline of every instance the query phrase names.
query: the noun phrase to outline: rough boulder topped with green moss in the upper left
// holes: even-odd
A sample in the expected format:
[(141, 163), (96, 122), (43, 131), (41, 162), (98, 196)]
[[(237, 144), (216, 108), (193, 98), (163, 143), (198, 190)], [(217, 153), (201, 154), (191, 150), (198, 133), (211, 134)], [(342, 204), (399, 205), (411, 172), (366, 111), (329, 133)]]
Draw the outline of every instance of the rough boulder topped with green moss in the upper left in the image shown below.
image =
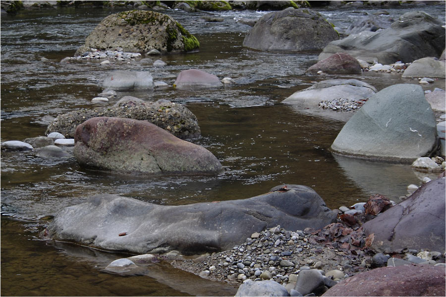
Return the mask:
[(197, 39), (172, 17), (155, 11), (132, 10), (107, 16), (88, 35), (75, 56), (91, 48), (102, 51), (186, 52), (200, 46)]

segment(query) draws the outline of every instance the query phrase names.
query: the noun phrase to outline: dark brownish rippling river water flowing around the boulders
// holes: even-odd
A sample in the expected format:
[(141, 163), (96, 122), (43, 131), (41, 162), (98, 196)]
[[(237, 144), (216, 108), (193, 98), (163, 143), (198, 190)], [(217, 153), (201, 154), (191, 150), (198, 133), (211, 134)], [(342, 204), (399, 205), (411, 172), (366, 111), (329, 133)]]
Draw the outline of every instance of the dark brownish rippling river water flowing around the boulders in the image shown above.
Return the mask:
[[(422, 9), (445, 20), (444, 5), (386, 9), (390, 17)], [(346, 29), (351, 21), (378, 8), (318, 10), (337, 27)], [(191, 141), (212, 151), (225, 170), (211, 177), (146, 178), (87, 170), (74, 158), (49, 160), (30, 152), (1, 152), (1, 295), (235, 293), (234, 288), (167, 264), (150, 266), (140, 275), (106, 273), (101, 269), (123, 255), (39, 240), (38, 231), (46, 224), (42, 217), (95, 194), (178, 205), (249, 198), (289, 183), (312, 187), (335, 208), (365, 201), (376, 193), (398, 201), (408, 184), (420, 183), (420, 177), (407, 165), (333, 155), (329, 148), (350, 114), (335, 119), (280, 104), (295, 91), (324, 79), (362, 79), (378, 90), (413, 81), (387, 73), (307, 76), (304, 72), (317, 60), (316, 52), (276, 54), (244, 49), (241, 44), (249, 27), (235, 20), (265, 14), (254, 11), (222, 12), (221, 23), (204, 22), (200, 19), (203, 13), (169, 12), (196, 35), (201, 47), (195, 53), (161, 56), (167, 62), (162, 68), (137, 61), (110, 66), (86, 61), (59, 63), (74, 54), (105, 16), (117, 11), (64, 8), (1, 15), (1, 142), (44, 135), (46, 125), (40, 118), (45, 115), (97, 106), (90, 100), (102, 91), (102, 81), (112, 70), (150, 71), (154, 79), (171, 85), (181, 70), (199, 68), (220, 78), (232, 77), (238, 84), (219, 89), (121, 92), (117, 99), (131, 95), (185, 104), (197, 116), (202, 131), (200, 138)], [(41, 62), (41, 57), (50, 61)], [(444, 88), (445, 82), (424, 88), (434, 87)]]

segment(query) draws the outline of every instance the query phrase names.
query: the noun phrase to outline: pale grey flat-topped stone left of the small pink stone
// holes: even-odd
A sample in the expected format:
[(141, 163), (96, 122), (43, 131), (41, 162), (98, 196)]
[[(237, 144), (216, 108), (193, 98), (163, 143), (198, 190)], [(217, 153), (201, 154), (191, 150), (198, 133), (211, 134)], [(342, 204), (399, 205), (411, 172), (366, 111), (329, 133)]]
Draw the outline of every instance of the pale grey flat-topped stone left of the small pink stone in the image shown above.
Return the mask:
[(147, 71), (114, 71), (102, 84), (104, 89), (153, 90), (153, 77)]

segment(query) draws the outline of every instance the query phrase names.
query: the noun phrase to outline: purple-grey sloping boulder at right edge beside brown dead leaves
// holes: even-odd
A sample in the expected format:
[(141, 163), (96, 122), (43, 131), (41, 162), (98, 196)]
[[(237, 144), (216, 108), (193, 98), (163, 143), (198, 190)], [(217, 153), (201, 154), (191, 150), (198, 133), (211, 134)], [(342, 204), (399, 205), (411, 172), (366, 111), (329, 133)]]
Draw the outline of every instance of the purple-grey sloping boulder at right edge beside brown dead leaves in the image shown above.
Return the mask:
[(362, 225), (374, 234), (372, 248), (390, 252), (402, 248), (445, 252), (445, 178), (422, 185), (409, 198)]

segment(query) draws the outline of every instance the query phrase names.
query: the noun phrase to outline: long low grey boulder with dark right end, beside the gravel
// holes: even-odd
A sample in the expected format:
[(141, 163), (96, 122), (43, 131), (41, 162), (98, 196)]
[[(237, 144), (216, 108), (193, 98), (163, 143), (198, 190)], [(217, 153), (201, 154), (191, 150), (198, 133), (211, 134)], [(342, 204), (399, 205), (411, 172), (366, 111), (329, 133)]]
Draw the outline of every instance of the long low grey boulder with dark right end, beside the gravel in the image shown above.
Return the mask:
[(200, 254), (232, 248), (265, 228), (318, 229), (336, 220), (337, 212), (311, 188), (281, 188), (247, 199), (178, 206), (98, 195), (57, 213), (48, 230), (56, 240), (107, 250)]

